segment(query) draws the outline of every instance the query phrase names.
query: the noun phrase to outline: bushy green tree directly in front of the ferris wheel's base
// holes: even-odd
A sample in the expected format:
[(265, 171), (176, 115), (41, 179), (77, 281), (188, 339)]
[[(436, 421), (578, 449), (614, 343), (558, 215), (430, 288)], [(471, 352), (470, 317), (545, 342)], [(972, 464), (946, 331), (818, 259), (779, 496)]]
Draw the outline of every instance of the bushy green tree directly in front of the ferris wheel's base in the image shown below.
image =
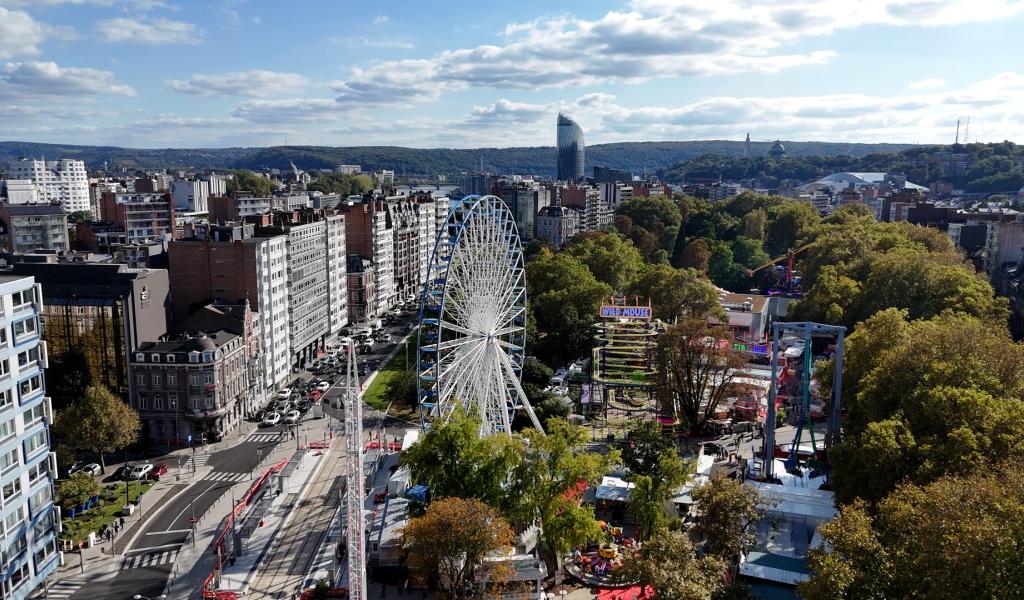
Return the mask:
[(480, 419), (457, 408), (447, 421), (434, 423), (401, 455), (413, 480), (430, 488), (434, 498), (472, 498), (508, 508), (505, 483), (523, 460), (518, 437), (480, 437)]

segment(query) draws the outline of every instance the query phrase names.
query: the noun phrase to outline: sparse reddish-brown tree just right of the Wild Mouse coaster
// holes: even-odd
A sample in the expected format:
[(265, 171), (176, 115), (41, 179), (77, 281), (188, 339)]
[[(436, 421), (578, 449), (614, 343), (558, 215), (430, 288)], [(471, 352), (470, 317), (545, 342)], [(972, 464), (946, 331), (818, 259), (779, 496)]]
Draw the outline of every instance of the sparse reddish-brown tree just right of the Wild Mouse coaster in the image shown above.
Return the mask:
[(684, 318), (658, 337), (655, 394), (662, 410), (699, 431), (744, 363), (727, 326)]

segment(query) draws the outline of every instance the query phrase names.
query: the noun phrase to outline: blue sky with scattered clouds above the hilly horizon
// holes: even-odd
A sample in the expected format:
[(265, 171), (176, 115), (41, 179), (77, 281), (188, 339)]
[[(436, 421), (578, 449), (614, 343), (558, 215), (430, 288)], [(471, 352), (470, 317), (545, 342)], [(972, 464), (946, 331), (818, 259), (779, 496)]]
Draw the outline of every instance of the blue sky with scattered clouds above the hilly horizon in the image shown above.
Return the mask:
[[(0, 139), (1024, 141), (1024, 0), (0, 0)], [(967, 130), (967, 120), (970, 129)]]

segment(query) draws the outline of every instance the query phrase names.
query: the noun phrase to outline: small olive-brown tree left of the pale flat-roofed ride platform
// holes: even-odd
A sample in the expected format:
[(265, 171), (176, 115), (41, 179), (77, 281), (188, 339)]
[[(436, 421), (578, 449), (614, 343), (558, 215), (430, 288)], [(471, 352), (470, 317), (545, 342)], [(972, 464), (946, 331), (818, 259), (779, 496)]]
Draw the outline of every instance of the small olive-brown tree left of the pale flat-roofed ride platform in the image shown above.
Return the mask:
[(705, 552), (724, 559), (754, 543), (751, 527), (770, 506), (754, 487), (725, 477), (712, 479), (690, 496), (699, 511), (696, 531), (705, 540)]

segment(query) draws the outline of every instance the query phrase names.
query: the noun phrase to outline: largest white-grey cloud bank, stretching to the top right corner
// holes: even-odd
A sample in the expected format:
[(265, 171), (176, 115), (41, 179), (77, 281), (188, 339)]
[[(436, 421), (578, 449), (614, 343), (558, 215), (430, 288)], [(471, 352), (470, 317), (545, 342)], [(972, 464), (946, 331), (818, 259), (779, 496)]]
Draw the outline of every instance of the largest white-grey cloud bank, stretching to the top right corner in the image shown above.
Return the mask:
[[(634, 0), (597, 19), (559, 15), (510, 24), (500, 44), (352, 68), (333, 87), (342, 101), (393, 103), (394, 95), (435, 99), (474, 86), (538, 89), (773, 73), (836, 55), (830, 47), (780, 51), (798, 40), (856, 27), (947, 26), (1022, 11), (1018, 0)], [(410, 71), (414, 77), (406, 77)]]

